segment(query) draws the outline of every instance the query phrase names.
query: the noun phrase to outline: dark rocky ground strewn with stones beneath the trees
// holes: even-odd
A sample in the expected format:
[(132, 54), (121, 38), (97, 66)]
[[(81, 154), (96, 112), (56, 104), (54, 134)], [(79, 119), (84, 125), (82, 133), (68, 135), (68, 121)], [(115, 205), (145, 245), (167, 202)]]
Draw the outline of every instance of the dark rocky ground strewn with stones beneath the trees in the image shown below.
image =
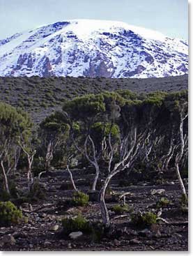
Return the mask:
[[(93, 174), (85, 170), (73, 170), (77, 188), (86, 192), (88, 181)], [(111, 183), (111, 195), (107, 197), (107, 207), (111, 218), (109, 234), (96, 242), (92, 236), (80, 234), (77, 239), (61, 235), (61, 219), (67, 216), (77, 216), (79, 212), (91, 221), (100, 220), (100, 206), (97, 202), (89, 202), (88, 206), (64, 207), (66, 199), (72, 197), (72, 190), (66, 190), (70, 181), (65, 170), (53, 170), (42, 176), (41, 182), (46, 187), (46, 198), (40, 202), (22, 204), (26, 223), (18, 226), (0, 227), (0, 250), (188, 250), (187, 213), (182, 213), (179, 206), (180, 187), (175, 179), (154, 185), (150, 181), (139, 181), (135, 185), (120, 187), (119, 177)], [(23, 178), (17, 182), (26, 189)], [(185, 180), (187, 188), (187, 180)], [(128, 192), (126, 202), (132, 213), (151, 211), (157, 213), (160, 209), (155, 203), (161, 197), (171, 201), (162, 209), (161, 217), (167, 223), (160, 221), (147, 228), (137, 228), (131, 223), (132, 213), (118, 216), (111, 211), (111, 206), (118, 204), (117, 196)], [(28, 221), (27, 221), (28, 219)], [(78, 230), (77, 230), (78, 231)]]

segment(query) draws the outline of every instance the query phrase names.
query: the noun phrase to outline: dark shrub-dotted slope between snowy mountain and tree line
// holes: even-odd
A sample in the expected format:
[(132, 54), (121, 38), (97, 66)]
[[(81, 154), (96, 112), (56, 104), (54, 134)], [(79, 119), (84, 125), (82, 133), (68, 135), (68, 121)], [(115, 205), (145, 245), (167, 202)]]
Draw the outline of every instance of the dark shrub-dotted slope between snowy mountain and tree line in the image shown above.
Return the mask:
[(188, 76), (163, 78), (0, 77), (0, 100), (29, 112), (39, 123), (65, 100), (87, 93), (129, 89), (137, 93), (187, 89)]

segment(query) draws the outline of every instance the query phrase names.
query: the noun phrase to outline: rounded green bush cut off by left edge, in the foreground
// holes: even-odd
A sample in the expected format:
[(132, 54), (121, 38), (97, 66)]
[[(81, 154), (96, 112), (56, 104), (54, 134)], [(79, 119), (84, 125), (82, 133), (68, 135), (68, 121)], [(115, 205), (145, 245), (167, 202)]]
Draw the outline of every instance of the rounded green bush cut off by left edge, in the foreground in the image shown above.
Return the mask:
[(22, 211), (12, 202), (0, 202), (0, 226), (10, 226), (20, 223)]

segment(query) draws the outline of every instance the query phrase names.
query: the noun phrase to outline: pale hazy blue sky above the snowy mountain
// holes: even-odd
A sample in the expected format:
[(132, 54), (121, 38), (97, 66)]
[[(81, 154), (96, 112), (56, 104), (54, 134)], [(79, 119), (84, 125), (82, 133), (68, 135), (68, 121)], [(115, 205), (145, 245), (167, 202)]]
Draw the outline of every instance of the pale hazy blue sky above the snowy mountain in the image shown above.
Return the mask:
[(0, 0), (0, 39), (43, 24), (118, 20), (187, 40), (187, 0)]

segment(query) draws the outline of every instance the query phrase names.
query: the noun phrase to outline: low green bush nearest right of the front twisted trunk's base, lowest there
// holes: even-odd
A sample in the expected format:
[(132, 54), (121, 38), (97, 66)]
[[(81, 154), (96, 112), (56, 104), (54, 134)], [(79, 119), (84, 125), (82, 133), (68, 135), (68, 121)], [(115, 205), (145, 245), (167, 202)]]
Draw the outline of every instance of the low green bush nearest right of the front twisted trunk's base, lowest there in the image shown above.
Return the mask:
[(132, 216), (132, 223), (138, 227), (146, 227), (157, 223), (157, 215), (155, 213), (136, 213)]

